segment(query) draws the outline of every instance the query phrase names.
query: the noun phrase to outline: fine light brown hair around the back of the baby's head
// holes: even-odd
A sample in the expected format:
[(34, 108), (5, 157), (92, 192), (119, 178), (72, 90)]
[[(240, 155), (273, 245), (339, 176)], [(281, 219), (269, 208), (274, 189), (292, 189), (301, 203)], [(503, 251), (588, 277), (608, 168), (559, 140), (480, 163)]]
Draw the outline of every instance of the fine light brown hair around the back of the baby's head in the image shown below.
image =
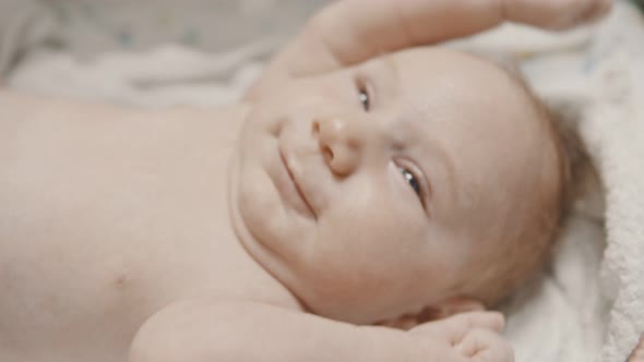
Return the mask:
[(554, 167), (558, 171), (553, 186), (535, 191), (541, 194), (536, 205), (529, 209), (530, 222), (518, 226), (518, 232), (503, 241), (501, 261), (487, 266), (465, 287), (467, 294), (487, 306), (493, 306), (535, 276), (547, 263), (567, 216), (579, 196), (581, 183), (591, 173), (594, 174), (594, 170), (572, 122), (560, 117), (556, 109), (547, 107), (533, 93), (517, 67), (498, 56), (484, 55), (484, 58), (502, 69), (526, 96), (546, 138), (552, 143), (550, 146), (553, 147), (557, 162)]

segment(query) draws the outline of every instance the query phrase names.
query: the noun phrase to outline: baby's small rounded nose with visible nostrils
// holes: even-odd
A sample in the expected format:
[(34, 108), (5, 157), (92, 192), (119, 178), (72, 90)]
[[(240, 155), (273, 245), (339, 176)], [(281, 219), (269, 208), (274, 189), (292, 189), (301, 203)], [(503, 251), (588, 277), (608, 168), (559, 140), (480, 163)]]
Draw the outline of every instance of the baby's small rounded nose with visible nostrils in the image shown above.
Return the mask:
[(318, 137), (326, 165), (339, 176), (348, 176), (360, 162), (363, 148), (363, 130), (341, 117), (319, 118), (312, 132)]

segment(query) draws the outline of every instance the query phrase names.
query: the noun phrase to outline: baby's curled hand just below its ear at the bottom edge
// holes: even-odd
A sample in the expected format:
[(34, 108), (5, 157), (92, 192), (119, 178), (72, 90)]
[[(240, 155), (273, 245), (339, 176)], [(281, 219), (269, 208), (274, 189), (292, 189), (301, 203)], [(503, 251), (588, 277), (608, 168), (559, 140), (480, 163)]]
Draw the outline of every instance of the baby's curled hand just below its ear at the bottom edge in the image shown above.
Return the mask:
[(512, 362), (512, 347), (499, 335), (503, 325), (500, 313), (470, 312), (426, 323), (408, 333), (418, 338), (428, 361), (440, 357), (450, 362)]

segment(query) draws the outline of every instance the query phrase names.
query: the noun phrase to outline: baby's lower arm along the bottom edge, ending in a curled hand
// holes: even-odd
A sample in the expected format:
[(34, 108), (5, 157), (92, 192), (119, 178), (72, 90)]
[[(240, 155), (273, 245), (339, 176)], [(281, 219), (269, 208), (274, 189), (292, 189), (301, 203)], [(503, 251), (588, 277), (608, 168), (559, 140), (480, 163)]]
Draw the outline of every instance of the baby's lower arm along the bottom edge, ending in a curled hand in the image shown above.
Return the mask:
[(130, 362), (509, 362), (511, 352), (493, 333), (501, 327), (493, 313), (402, 331), (257, 302), (191, 301), (153, 316), (133, 341)]

